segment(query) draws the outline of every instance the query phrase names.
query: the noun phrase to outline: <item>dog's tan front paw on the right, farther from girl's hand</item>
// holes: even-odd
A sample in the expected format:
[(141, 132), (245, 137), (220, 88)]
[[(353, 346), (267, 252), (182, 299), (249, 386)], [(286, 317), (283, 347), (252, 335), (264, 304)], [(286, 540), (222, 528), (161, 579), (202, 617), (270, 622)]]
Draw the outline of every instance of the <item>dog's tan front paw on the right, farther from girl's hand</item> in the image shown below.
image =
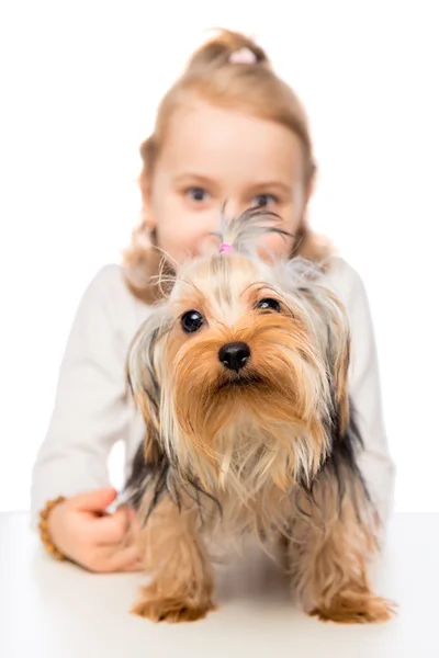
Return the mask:
[(371, 624), (387, 622), (396, 614), (397, 605), (381, 597), (360, 598), (358, 600), (338, 595), (325, 608), (316, 608), (309, 615), (323, 622), (338, 624)]

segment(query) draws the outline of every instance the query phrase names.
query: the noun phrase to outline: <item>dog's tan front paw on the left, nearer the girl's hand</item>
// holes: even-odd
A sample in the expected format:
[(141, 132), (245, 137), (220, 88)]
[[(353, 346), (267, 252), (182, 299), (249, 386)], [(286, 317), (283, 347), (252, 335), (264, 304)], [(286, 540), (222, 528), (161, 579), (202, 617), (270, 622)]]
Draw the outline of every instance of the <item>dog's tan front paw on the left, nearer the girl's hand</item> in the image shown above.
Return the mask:
[(202, 620), (212, 610), (216, 610), (216, 605), (211, 601), (195, 605), (193, 602), (170, 598), (140, 600), (133, 606), (131, 612), (153, 622), (178, 624)]

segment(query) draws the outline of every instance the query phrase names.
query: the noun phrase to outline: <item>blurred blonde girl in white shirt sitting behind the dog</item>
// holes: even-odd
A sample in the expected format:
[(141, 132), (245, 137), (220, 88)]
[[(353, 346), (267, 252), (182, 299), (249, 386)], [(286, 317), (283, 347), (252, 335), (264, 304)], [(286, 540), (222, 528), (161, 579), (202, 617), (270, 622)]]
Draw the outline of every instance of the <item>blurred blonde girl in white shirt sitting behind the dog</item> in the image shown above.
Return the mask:
[(143, 224), (123, 265), (100, 270), (82, 297), (33, 470), (32, 519), (36, 524), (46, 510), (47, 547), (95, 571), (139, 568), (133, 511), (106, 512), (116, 496), (108, 473), (111, 447), (125, 442), (127, 475), (144, 435), (125, 390), (127, 348), (159, 295), (154, 276), (162, 253), (169, 266), (196, 256), (206, 234), (217, 229), (225, 200), (229, 216), (259, 205), (282, 217), (294, 239), (271, 236), (266, 243), (279, 258), (325, 262), (349, 316), (350, 394), (365, 444), (361, 468), (385, 523), (394, 468), (367, 295), (358, 274), (307, 225), (315, 164), (297, 98), (260, 47), (222, 32), (195, 52), (168, 91), (140, 154)]

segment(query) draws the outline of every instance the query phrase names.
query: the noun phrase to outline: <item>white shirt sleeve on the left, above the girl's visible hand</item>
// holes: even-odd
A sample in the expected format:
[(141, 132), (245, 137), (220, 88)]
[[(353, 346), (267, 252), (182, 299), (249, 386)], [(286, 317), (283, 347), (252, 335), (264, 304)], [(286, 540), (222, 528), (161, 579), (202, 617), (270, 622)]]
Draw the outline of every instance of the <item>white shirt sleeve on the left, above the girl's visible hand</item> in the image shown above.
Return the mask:
[(117, 330), (123, 285), (119, 266), (108, 265), (79, 303), (48, 430), (32, 472), (32, 525), (48, 499), (110, 486), (109, 454), (124, 436), (130, 416), (124, 341)]

